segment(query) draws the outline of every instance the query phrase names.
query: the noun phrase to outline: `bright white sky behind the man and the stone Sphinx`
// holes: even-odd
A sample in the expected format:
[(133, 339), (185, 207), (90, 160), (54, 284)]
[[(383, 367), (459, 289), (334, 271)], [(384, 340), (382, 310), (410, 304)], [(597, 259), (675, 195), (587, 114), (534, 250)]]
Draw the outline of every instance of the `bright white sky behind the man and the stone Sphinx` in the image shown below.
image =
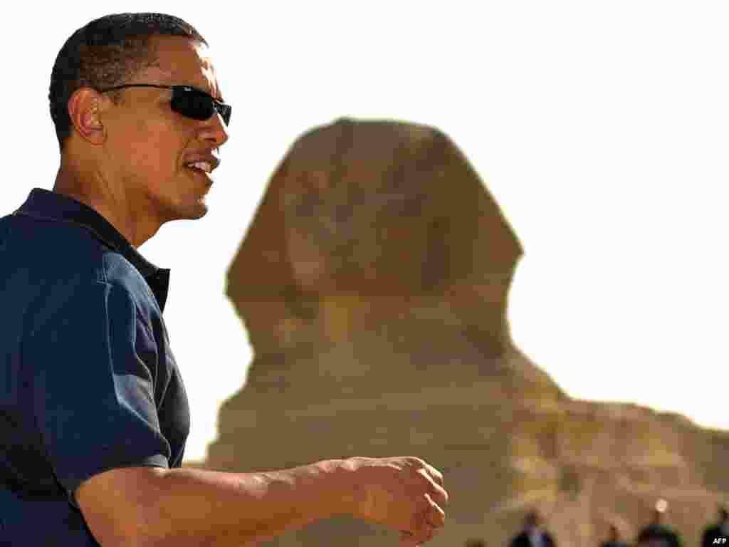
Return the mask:
[(569, 395), (729, 429), (725, 2), (11, 5), (3, 214), (53, 185), (48, 85), (73, 31), (159, 11), (211, 44), (233, 119), (210, 212), (140, 249), (172, 268), (165, 319), (192, 408), (187, 459), (204, 457), (252, 359), (223, 295), (227, 266), (288, 147), (343, 115), (434, 125), (464, 150), (526, 249), (515, 341)]

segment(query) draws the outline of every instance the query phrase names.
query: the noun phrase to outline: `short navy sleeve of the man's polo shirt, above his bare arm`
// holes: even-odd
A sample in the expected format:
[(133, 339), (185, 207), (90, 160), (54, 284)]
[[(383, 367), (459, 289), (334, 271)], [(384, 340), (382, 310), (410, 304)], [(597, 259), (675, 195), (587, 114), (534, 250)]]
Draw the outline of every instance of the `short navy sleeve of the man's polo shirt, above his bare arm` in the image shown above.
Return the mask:
[(155, 346), (124, 287), (53, 292), (27, 344), (34, 409), (47, 457), (71, 503), (87, 478), (114, 468), (168, 467), (155, 405)]

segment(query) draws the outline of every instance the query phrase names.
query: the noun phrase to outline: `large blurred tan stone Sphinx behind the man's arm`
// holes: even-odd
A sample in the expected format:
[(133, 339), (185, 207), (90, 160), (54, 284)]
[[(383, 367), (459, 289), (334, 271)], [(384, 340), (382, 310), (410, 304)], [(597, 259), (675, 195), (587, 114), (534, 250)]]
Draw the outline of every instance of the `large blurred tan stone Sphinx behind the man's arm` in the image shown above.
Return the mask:
[[(566, 397), (512, 342), (508, 292), (521, 254), (440, 131), (338, 120), (303, 135), (228, 271), (254, 362), (220, 411), (208, 468), (423, 457), (451, 492), (435, 547), (503, 545), (529, 507), (561, 546), (597, 544), (610, 522), (632, 537), (657, 497), (695, 540), (729, 493), (729, 435)], [(271, 544), (396, 542), (332, 519)]]

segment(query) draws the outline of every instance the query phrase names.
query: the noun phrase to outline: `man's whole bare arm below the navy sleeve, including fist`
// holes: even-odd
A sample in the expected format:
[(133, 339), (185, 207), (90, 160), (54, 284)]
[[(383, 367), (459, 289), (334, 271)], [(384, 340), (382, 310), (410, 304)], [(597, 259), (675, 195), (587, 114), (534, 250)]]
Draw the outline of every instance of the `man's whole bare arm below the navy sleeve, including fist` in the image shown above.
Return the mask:
[(448, 496), (439, 480), (416, 458), (333, 459), (265, 473), (128, 468), (88, 479), (77, 501), (103, 547), (257, 545), (343, 513), (402, 530), (416, 545), (443, 525)]

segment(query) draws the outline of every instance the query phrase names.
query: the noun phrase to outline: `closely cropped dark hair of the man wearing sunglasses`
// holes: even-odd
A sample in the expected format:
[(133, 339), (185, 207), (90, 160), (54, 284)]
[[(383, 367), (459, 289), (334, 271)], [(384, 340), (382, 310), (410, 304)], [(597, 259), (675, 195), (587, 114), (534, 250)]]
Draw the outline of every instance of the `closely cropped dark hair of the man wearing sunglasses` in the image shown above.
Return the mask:
[[(71, 34), (58, 52), (50, 76), (50, 117), (58, 146), (71, 135), (69, 99), (83, 87), (120, 85), (157, 61), (150, 36), (187, 36), (208, 44), (190, 23), (163, 13), (117, 13), (95, 19)], [(109, 94), (115, 104), (120, 93)]]

